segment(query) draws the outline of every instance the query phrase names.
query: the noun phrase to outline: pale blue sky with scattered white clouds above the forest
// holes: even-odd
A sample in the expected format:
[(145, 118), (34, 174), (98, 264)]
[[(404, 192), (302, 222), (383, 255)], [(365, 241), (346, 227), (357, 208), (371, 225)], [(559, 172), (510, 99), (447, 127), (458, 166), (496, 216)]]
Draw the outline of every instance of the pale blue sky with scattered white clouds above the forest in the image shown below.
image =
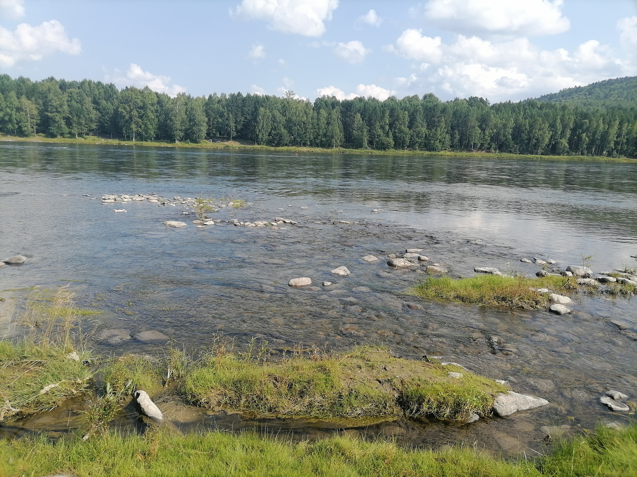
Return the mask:
[(0, 0), (0, 73), (515, 101), (637, 75), (637, 0)]

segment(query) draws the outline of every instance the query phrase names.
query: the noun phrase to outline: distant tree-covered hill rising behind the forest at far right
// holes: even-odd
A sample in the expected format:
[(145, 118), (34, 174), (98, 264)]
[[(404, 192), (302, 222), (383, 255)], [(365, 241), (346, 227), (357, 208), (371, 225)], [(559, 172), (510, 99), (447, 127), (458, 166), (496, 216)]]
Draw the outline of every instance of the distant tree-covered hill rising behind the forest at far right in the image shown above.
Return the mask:
[(574, 102), (582, 106), (637, 106), (637, 76), (605, 79), (587, 86), (545, 94), (536, 99), (544, 102)]

